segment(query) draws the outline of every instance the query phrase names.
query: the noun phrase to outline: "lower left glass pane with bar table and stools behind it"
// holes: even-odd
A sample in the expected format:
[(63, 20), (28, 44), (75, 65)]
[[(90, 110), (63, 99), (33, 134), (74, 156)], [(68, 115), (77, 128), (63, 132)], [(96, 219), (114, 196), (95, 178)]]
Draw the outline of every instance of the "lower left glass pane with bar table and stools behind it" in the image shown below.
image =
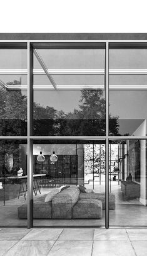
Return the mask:
[(1, 226), (27, 226), (28, 191), (26, 156), (26, 141), (0, 141)]

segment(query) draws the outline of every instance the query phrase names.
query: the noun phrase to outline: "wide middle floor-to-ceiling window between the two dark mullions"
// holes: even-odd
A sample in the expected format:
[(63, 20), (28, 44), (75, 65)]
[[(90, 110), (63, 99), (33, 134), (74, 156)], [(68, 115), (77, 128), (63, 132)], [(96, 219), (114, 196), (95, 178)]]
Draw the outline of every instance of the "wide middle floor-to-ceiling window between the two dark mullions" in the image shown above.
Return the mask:
[(104, 225), (105, 44), (38, 46), (33, 53), (33, 135), (43, 138), (33, 142), (34, 225)]

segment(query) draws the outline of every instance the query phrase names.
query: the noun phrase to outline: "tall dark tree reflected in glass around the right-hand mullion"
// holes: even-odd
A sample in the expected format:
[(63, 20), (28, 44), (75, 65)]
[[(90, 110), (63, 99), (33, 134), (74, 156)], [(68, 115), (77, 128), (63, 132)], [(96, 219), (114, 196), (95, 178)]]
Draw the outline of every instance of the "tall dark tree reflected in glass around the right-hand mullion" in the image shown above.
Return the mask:
[[(81, 90), (79, 109), (66, 114), (61, 133), (64, 135), (105, 135), (105, 99), (102, 90)], [(118, 117), (109, 115), (110, 133), (118, 133)], [(61, 128), (61, 127), (60, 127)]]

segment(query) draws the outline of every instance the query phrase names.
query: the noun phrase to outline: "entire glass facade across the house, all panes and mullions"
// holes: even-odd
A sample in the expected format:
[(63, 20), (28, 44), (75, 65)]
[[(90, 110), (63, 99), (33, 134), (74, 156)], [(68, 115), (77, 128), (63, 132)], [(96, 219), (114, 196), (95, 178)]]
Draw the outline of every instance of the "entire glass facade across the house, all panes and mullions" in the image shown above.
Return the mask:
[(1, 226), (147, 226), (146, 46), (0, 43)]

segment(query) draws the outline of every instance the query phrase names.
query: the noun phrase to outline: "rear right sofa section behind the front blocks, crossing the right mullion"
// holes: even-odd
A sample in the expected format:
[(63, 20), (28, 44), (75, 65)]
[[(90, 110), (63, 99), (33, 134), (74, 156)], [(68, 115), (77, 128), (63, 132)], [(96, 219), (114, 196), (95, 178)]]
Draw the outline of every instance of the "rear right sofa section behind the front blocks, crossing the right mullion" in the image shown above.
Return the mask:
[[(102, 201), (103, 209), (105, 209), (105, 193), (80, 193), (79, 199), (98, 199)], [(109, 209), (115, 209), (115, 195), (113, 193), (109, 194)]]

